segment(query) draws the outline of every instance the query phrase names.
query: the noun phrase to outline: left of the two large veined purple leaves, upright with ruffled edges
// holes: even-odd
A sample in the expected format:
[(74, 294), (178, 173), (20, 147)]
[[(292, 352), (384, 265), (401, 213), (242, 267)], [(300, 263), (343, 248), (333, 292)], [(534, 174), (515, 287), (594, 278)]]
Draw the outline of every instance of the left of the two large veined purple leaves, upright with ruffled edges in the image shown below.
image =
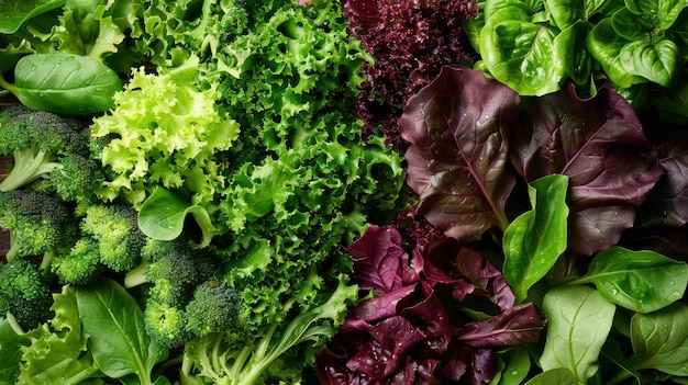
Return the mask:
[(420, 195), (418, 213), (462, 242), (509, 225), (504, 206), (515, 172), (507, 133), (519, 100), (481, 71), (443, 67), (398, 121), (411, 144), (407, 183)]

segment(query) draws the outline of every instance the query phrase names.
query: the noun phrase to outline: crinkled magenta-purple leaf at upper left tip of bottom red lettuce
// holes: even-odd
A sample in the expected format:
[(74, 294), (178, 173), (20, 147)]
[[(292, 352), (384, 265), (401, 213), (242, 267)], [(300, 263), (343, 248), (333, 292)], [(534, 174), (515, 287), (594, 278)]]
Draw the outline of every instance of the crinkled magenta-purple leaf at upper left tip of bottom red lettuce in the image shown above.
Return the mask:
[(406, 251), (401, 248), (401, 234), (395, 227), (371, 225), (344, 251), (354, 260), (353, 276), (362, 290), (374, 290), (381, 295), (403, 286), (400, 262)]

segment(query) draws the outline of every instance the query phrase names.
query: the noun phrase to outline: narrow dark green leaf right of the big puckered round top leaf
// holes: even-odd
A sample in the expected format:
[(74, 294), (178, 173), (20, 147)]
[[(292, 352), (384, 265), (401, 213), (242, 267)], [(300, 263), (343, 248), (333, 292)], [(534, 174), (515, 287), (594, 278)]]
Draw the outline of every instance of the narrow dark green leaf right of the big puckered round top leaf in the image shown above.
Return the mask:
[(555, 52), (566, 73), (577, 84), (585, 84), (592, 72), (592, 57), (586, 48), (588, 23), (578, 20), (554, 38)]

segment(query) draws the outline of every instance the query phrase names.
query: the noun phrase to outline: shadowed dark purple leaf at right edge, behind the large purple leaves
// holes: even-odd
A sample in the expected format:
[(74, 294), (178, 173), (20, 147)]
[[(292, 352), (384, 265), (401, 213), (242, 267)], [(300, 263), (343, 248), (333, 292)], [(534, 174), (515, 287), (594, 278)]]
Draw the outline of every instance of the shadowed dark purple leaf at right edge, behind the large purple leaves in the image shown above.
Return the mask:
[(688, 223), (688, 141), (673, 137), (656, 146), (664, 175), (637, 213), (639, 227), (680, 227)]

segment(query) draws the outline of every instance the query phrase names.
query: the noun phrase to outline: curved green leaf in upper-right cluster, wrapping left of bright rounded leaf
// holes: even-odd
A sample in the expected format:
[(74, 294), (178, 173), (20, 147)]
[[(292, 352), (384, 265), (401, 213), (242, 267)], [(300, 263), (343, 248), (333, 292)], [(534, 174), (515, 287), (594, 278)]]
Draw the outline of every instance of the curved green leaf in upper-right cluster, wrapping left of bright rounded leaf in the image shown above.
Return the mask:
[(621, 49), (628, 43), (614, 32), (610, 18), (597, 23), (586, 39), (590, 55), (602, 66), (609, 79), (621, 88), (647, 81), (641, 76), (630, 73), (621, 61)]

